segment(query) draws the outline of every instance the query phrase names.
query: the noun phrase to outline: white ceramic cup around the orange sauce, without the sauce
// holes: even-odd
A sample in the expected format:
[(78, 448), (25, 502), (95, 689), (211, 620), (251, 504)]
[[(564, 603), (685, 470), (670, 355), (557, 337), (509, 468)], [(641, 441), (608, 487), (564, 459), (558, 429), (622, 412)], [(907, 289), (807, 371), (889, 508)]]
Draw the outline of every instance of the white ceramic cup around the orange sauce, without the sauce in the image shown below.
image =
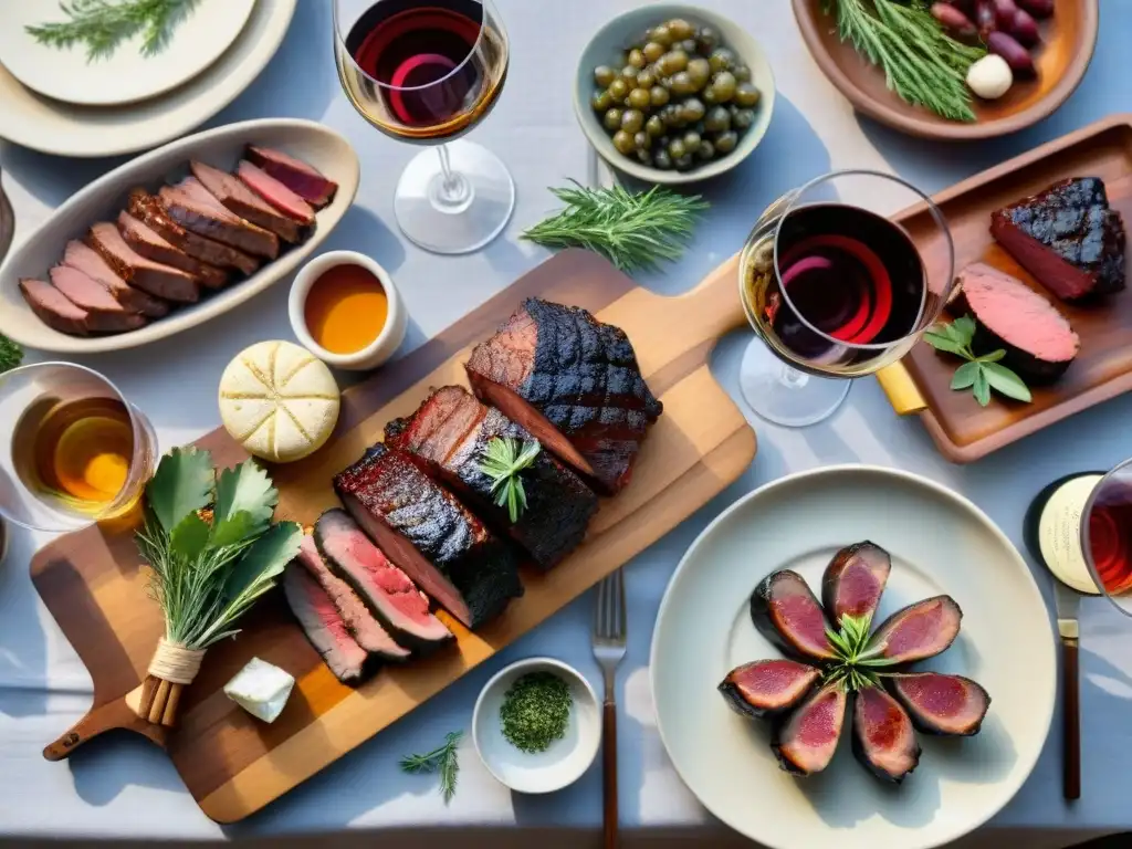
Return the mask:
[[(368, 271), (380, 281), (389, 301), (389, 315), (386, 317), (385, 327), (381, 328), (377, 338), (360, 351), (348, 354), (327, 351), (315, 342), (307, 328), (306, 317), (307, 295), (310, 293), (310, 288), (326, 272), (340, 265), (357, 265)], [(303, 348), (327, 366), (349, 371), (369, 371), (384, 363), (401, 348), (409, 327), (409, 312), (405, 310), (401, 293), (394, 285), (389, 273), (365, 254), (358, 254), (353, 250), (332, 250), (307, 263), (302, 271), (295, 275), (294, 283), (291, 284), (288, 312), (291, 317), (291, 329), (294, 331), (295, 337)]]

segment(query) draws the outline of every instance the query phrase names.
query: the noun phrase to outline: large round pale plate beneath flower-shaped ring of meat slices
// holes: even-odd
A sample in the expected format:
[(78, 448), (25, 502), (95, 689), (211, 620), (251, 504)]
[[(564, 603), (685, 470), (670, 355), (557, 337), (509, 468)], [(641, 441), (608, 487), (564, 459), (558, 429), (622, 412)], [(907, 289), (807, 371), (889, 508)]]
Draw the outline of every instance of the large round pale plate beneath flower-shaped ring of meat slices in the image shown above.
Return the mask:
[[(782, 772), (769, 729), (734, 713), (715, 689), (740, 663), (781, 657), (751, 621), (755, 585), (791, 568), (820, 594), (833, 554), (866, 539), (892, 555), (877, 617), (950, 594), (963, 610), (960, 636), (919, 668), (974, 678), (992, 697), (978, 736), (920, 735), (919, 766), (899, 787), (855, 761), (848, 718), (824, 773)], [(1053, 715), (1055, 657), (1037, 584), (984, 513), (914, 474), (852, 465), (769, 483), (707, 526), (664, 593), (651, 674), (672, 763), (735, 830), (771, 849), (928, 849), (985, 823), (1030, 774)]]

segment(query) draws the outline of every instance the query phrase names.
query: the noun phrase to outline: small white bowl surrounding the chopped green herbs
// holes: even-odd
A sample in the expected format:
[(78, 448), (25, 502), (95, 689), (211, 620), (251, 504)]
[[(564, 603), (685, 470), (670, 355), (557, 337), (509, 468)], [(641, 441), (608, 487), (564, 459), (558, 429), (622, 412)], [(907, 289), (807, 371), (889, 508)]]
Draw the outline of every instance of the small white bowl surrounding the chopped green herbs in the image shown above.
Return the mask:
[[(552, 672), (566, 681), (573, 698), (566, 736), (546, 752), (530, 754), (503, 736), (499, 709), (512, 684), (529, 672)], [(549, 794), (577, 781), (601, 746), (601, 705), (590, 683), (554, 658), (529, 658), (512, 663), (487, 683), (475, 700), (472, 741), (488, 771), (512, 790)]]

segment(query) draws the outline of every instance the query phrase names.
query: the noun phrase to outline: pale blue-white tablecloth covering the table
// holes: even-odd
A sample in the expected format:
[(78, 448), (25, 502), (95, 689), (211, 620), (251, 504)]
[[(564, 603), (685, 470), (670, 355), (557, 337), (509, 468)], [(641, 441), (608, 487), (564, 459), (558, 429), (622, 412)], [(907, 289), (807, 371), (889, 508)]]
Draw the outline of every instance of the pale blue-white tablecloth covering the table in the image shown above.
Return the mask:
[[(821, 172), (866, 166), (893, 170), (928, 191), (966, 178), (1036, 144), (1112, 112), (1132, 109), (1127, 36), (1132, 1), (1104, 0), (1097, 54), (1078, 93), (1052, 119), (1017, 136), (981, 144), (912, 139), (858, 118), (825, 80), (798, 35), (789, 0), (702, 0), (746, 26), (766, 48), (779, 98), (770, 131), (734, 178), (703, 187), (713, 203), (688, 256), (643, 283), (677, 292), (694, 285), (734, 254), (765, 204)], [(606, 19), (631, 0), (498, 0), (512, 37), (513, 62), (504, 96), (472, 138), (507, 162), (518, 205), (504, 238), (460, 258), (424, 254), (394, 223), (397, 174), (417, 152), (372, 130), (342, 95), (331, 52), (328, 0), (300, 0), (280, 53), (245, 94), (211, 122), (292, 115), (344, 132), (362, 160), (358, 203), (327, 249), (367, 252), (395, 276), (411, 314), (403, 352), (457, 320), (544, 258), (520, 242), (520, 231), (555, 207), (547, 186), (586, 179), (588, 148), (571, 106), (576, 58)], [(0, 146), (0, 168), (17, 215), (17, 240), (76, 189), (119, 164), (67, 161)], [(851, 200), (851, 198), (849, 198)], [(290, 338), (288, 284), (281, 283), (208, 326), (144, 349), (82, 358), (111, 377), (151, 417), (163, 448), (189, 441), (220, 423), (216, 381), (229, 359), (264, 338)], [(720, 346), (714, 370), (736, 393), (747, 334)], [(760, 437), (753, 466), (727, 491), (627, 568), (629, 646), (620, 681), (620, 792), (626, 826), (691, 825), (710, 817), (681, 784), (655, 732), (648, 660), (652, 623), (681, 554), (723, 507), (786, 473), (843, 462), (899, 466), (966, 494), (1021, 547), (1029, 499), (1049, 480), (1080, 469), (1105, 469), (1132, 454), (1132, 397), (1062, 422), (975, 465), (950, 465), (915, 419), (898, 419), (874, 380), (861, 380), (830, 421), (779, 429), (752, 417)], [(0, 824), (6, 834), (207, 838), (222, 833), (196, 807), (157, 749), (129, 736), (89, 745), (68, 764), (48, 763), (41, 748), (91, 703), (91, 679), (38, 601), (27, 574), (32, 551), (45, 542), (15, 532), (0, 571)], [(1047, 581), (1038, 577), (1047, 591)], [(394, 728), (342, 758), (251, 821), (229, 833), (432, 824), (595, 826), (601, 820), (600, 770), (560, 794), (512, 796), (469, 749), (460, 792), (445, 806), (428, 778), (397, 770), (400, 755), (468, 728), (479, 688), (504, 663), (552, 654), (599, 683), (590, 652), (592, 598), (566, 610)], [(1003, 603), (1010, 603), (1004, 599)], [(1132, 829), (1127, 763), (1132, 758), (1132, 621), (1104, 602), (1087, 602), (1082, 619), (1083, 798), (1061, 798), (1057, 719), (1034, 775), (993, 826), (1032, 830)], [(1046, 835), (1048, 837), (1048, 834)]]

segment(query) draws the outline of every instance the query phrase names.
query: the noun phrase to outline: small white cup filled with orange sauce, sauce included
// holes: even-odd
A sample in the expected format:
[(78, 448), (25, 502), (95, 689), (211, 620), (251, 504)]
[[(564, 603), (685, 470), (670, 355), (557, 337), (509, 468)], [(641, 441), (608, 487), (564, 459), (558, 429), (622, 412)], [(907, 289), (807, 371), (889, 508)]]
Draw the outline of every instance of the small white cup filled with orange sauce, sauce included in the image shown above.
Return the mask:
[(327, 366), (368, 371), (405, 338), (409, 314), (393, 278), (363, 254), (335, 250), (311, 259), (291, 285), (291, 327)]

